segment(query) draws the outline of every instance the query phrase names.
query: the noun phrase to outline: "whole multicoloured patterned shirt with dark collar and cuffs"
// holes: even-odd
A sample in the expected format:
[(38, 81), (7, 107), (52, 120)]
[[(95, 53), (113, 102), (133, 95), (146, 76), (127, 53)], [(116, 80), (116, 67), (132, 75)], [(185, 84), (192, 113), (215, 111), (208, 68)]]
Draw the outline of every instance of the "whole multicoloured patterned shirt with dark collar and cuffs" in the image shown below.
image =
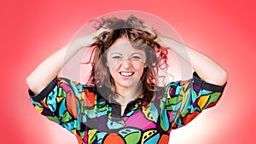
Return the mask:
[(172, 129), (215, 106), (224, 86), (208, 84), (194, 73), (189, 80), (168, 84), (147, 106), (142, 99), (131, 101), (122, 116), (118, 103), (67, 78), (55, 78), (38, 95), (29, 92), (38, 112), (76, 135), (79, 144), (168, 144)]

